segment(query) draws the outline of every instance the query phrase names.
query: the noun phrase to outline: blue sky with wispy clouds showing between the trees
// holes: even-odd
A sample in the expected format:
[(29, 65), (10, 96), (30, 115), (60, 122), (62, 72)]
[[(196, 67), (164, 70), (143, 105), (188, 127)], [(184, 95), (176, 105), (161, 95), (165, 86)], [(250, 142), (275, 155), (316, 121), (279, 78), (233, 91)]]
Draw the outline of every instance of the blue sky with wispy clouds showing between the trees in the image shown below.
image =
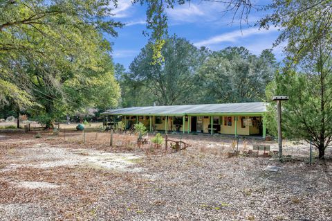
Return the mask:
[[(263, 0), (255, 1), (256, 5), (264, 5)], [(264, 11), (252, 10), (248, 17), (249, 24), (242, 24), (239, 18), (231, 24), (232, 14), (225, 14), (223, 3), (211, 1), (190, 1), (182, 6), (167, 10), (169, 18), (169, 35), (185, 37), (195, 46), (207, 46), (217, 51), (228, 46), (245, 46), (251, 53), (259, 55), (266, 48), (272, 48), (279, 35), (277, 28), (259, 30), (255, 21), (264, 17)], [(113, 42), (113, 60), (123, 64), (126, 69), (140, 53), (140, 48), (147, 44), (148, 37), (142, 35), (145, 28), (146, 8), (140, 4), (132, 5), (130, 0), (119, 0), (118, 7), (113, 10), (113, 19), (126, 24), (119, 28), (118, 37), (105, 36)], [(273, 48), (277, 60), (282, 60), (282, 46)]]

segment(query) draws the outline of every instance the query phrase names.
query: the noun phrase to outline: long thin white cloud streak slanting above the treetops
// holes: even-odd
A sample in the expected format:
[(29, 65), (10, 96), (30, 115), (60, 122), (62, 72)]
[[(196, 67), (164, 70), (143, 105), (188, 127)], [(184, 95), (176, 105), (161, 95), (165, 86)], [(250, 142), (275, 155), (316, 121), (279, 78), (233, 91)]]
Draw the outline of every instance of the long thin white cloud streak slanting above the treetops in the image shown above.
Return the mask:
[(209, 39), (205, 39), (200, 42), (194, 43), (195, 46), (210, 46), (213, 44), (219, 44), (221, 42), (237, 42), (239, 39), (243, 39), (245, 37), (249, 37), (251, 35), (262, 35), (271, 32), (277, 31), (277, 28), (270, 28), (268, 30), (259, 30), (258, 28), (247, 28), (244, 30), (234, 30), (230, 33), (223, 33), (221, 35), (216, 35), (214, 37), (210, 37)]

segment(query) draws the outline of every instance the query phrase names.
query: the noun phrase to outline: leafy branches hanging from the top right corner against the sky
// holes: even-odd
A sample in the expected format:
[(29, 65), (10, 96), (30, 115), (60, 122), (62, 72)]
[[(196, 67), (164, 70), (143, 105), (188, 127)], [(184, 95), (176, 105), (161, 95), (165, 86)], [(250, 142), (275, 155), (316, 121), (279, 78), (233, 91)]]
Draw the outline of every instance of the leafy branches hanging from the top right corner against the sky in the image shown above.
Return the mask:
[(332, 44), (331, 0), (275, 0), (266, 7), (271, 13), (259, 20), (261, 28), (279, 26), (275, 44), (286, 42), (288, 66), (297, 65), (321, 42)]

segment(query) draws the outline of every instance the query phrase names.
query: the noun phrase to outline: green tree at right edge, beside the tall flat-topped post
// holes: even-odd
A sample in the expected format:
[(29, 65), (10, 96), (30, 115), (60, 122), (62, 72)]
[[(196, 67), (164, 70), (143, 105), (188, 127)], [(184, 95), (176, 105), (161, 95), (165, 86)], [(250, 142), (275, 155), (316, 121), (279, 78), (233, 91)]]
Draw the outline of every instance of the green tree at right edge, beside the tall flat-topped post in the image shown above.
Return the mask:
[[(299, 62), (301, 71), (285, 69), (267, 87), (266, 96), (288, 95), (282, 103), (282, 130), (292, 139), (312, 139), (324, 158), (324, 150), (332, 141), (332, 51), (322, 43)], [(267, 107), (269, 132), (276, 134), (275, 103)]]

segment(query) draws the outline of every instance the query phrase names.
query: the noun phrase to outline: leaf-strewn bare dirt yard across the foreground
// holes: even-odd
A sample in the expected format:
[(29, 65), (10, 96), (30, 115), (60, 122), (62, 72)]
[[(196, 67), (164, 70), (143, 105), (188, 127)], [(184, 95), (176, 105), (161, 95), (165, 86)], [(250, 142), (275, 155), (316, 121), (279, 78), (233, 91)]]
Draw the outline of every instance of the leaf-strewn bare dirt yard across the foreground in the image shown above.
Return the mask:
[(169, 135), (192, 146), (165, 152), (130, 134), (112, 147), (107, 132), (36, 134), (0, 132), (0, 220), (332, 220), (330, 159), (228, 158), (219, 136)]

